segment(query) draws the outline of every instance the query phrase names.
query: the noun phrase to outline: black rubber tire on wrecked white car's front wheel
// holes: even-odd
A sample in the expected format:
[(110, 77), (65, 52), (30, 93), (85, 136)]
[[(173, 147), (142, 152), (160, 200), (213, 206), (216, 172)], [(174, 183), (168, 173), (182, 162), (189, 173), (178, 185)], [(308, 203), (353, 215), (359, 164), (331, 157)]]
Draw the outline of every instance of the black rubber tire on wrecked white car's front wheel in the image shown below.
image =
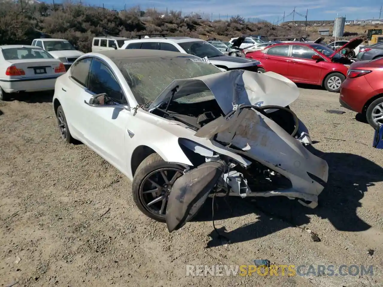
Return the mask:
[[(147, 195), (141, 194), (141, 188), (142, 188), (142, 190), (145, 188), (144, 184), (146, 184), (146, 182), (147, 182), (146, 179), (148, 177), (151, 177), (152, 173), (154, 173), (155, 171), (158, 171), (158, 170), (164, 170), (166, 168), (169, 168), (169, 170), (174, 169), (174, 170), (179, 171), (180, 172), (179, 176), (182, 176), (183, 170), (185, 170), (185, 168), (181, 165), (177, 165), (175, 163), (169, 163), (167, 161), (164, 161), (158, 153), (152, 153), (151, 155), (149, 155), (147, 158), (145, 158), (140, 163), (140, 165), (138, 166), (138, 168), (136, 170), (136, 173), (134, 173), (133, 183), (132, 183), (133, 200), (134, 200), (134, 203), (137, 205), (138, 209), (141, 210), (141, 212), (143, 214), (145, 214), (147, 217), (150, 217), (151, 219), (154, 219), (154, 220), (159, 221), (159, 222), (166, 222), (166, 220), (165, 220), (166, 208), (165, 208), (163, 214), (160, 215), (160, 212), (155, 212), (155, 210), (152, 210), (149, 207), (147, 207), (145, 202), (151, 201), (154, 198), (158, 198), (159, 196), (152, 197), (152, 193), (147, 194)], [(153, 176), (154, 176), (154, 174), (153, 174)], [(153, 180), (153, 177), (151, 179)], [(160, 181), (157, 181), (155, 183), (162, 186)], [(171, 188), (171, 186), (170, 186), (170, 188)], [(167, 199), (166, 199), (166, 201), (167, 201)], [(149, 203), (149, 202), (147, 202), (147, 203)], [(158, 203), (158, 205), (160, 205), (160, 203), (162, 205), (162, 202), (157, 202), (157, 203)], [(160, 209), (160, 208), (158, 208), (158, 209)]]

